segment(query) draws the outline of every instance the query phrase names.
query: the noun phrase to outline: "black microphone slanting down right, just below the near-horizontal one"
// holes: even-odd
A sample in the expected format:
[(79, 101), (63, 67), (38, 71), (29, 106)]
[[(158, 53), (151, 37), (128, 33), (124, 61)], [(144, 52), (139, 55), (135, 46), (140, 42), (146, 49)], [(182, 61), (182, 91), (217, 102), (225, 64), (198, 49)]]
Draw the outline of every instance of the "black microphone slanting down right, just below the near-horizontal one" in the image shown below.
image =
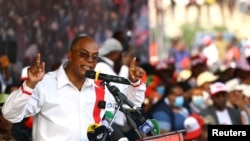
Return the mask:
[(137, 107), (128, 100), (126, 95), (124, 95), (116, 86), (110, 86), (109, 84), (106, 85), (110, 93), (115, 97), (116, 100), (119, 100), (119, 102), (123, 101), (125, 104), (127, 104), (129, 107), (133, 109), (137, 109)]

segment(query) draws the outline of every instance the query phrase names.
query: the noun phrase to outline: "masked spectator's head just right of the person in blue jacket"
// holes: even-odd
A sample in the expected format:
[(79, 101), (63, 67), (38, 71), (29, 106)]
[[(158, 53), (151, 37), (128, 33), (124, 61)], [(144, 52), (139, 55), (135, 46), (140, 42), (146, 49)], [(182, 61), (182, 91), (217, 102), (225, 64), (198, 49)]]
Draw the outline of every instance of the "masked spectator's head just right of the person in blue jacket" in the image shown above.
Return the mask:
[(202, 109), (207, 107), (205, 100), (202, 95), (202, 89), (194, 87), (190, 91), (190, 102), (189, 102), (191, 113), (199, 113)]

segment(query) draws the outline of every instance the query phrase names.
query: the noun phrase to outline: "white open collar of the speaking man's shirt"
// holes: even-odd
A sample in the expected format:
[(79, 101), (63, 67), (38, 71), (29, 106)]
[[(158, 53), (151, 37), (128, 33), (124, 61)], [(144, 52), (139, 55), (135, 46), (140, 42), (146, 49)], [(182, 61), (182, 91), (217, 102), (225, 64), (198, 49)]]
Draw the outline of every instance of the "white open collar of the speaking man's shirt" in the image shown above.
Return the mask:
[[(58, 88), (61, 88), (67, 84), (72, 84), (65, 72), (65, 68), (68, 66), (68, 62), (64, 62), (60, 65), (56, 73), (56, 79), (58, 80)], [(86, 78), (84, 82), (85, 86), (94, 85), (94, 80)]]

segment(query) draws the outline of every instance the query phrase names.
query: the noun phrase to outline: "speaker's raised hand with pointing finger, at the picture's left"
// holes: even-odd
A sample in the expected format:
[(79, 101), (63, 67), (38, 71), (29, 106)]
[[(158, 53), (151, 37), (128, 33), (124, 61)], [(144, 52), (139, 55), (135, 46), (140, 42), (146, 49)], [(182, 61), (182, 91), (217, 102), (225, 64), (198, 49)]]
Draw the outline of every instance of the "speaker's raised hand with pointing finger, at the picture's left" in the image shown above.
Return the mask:
[(45, 62), (41, 63), (41, 55), (38, 53), (36, 55), (36, 63), (28, 68), (28, 79), (27, 86), (30, 88), (35, 88), (36, 84), (43, 79), (45, 74)]

